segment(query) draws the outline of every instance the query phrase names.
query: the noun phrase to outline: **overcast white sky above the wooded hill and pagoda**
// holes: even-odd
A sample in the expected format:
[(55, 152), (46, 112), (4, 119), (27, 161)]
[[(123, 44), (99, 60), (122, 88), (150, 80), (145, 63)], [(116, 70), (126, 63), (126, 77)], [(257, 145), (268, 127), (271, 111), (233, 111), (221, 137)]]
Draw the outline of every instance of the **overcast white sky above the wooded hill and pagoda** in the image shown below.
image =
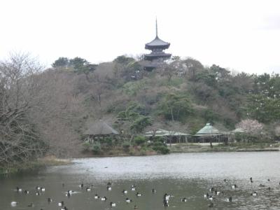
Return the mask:
[(167, 52), (248, 73), (280, 73), (280, 1), (0, 1), (0, 59), (31, 52), (92, 63), (147, 53), (158, 33)]

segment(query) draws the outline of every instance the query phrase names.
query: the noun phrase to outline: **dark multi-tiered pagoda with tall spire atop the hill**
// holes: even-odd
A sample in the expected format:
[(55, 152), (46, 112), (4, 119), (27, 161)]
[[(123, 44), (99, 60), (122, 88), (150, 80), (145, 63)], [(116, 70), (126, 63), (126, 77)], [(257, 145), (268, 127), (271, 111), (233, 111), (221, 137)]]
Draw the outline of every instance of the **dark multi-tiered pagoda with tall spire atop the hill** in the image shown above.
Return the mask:
[(144, 55), (144, 59), (148, 61), (144, 69), (151, 71), (162, 64), (165, 59), (169, 59), (171, 54), (164, 52), (164, 50), (169, 48), (169, 45), (170, 43), (162, 41), (158, 37), (158, 21), (155, 20), (155, 39), (145, 45), (145, 49), (152, 52)]

